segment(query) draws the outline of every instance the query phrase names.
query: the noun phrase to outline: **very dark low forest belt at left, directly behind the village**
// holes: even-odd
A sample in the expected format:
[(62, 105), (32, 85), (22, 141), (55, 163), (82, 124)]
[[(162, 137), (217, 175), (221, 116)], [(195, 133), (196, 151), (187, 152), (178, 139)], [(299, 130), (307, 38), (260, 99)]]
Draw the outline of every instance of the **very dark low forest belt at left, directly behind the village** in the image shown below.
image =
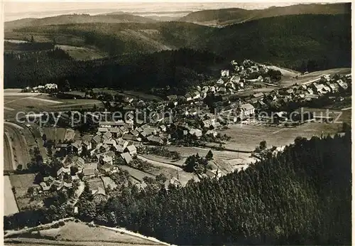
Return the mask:
[(60, 49), (27, 54), (4, 55), (4, 87), (26, 87), (54, 82), (61, 87), (69, 80), (71, 87), (139, 90), (185, 94), (219, 70), (214, 65), (229, 60), (190, 49), (164, 50), (152, 54), (128, 54), (93, 61), (70, 59)]

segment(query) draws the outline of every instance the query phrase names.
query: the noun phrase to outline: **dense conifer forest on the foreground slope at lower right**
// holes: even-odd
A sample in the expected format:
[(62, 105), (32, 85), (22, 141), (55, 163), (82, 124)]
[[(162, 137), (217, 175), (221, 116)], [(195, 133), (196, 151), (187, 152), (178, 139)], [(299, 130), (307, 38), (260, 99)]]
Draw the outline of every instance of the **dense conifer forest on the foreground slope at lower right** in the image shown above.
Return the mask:
[(283, 153), (217, 180), (119, 192), (80, 218), (119, 225), (175, 245), (351, 243), (351, 134), (297, 138)]

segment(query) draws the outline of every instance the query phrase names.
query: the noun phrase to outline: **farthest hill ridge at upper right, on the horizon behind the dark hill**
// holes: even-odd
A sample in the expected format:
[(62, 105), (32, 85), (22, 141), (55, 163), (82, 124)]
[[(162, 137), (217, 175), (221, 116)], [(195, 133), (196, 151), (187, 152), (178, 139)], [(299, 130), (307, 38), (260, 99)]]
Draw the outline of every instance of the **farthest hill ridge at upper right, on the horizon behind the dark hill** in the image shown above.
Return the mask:
[(215, 9), (196, 11), (179, 19), (202, 25), (229, 25), (274, 16), (295, 14), (351, 14), (351, 4), (297, 4), (268, 9)]

